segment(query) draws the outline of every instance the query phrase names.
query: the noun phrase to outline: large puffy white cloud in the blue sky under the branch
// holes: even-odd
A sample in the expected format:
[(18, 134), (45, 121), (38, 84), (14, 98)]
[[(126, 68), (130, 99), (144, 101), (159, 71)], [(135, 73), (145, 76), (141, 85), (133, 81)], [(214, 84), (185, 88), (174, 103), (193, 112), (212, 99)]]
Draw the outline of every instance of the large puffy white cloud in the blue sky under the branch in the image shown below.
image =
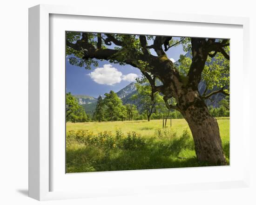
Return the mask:
[(104, 64), (102, 68), (96, 68), (88, 74), (94, 82), (105, 85), (114, 85), (120, 83), (122, 80), (133, 82), (137, 77), (135, 73), (123, 75), (119, 70), (112, 67), (111, 64)]

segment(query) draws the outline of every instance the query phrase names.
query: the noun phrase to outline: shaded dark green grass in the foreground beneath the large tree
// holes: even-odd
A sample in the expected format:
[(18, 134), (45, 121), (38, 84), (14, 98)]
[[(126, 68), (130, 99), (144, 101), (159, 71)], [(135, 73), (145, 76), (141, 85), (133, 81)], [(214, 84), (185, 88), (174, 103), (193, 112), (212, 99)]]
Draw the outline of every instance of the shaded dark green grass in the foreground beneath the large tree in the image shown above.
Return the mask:
[(140, 149), (67, 149), (66, 161), (67, 173), (213, 166), (197, 161), (193, 140), (186, 135), (171, 141), (152, 138)]

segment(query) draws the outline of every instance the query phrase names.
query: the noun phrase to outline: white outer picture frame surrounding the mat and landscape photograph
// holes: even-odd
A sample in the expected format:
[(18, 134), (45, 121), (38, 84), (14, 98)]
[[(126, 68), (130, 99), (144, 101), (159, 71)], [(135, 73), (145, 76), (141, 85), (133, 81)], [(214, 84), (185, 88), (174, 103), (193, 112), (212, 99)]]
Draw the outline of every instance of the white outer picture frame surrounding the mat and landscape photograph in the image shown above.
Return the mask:
[[(175, 14), (165, 12), (147, 13), (129, 13), (126, 11), (116, 11), (109, 14), (105, 10), (86, 10), (79, 7), (70, 6), (52, 6), (38, 5), (29, 9), (29, 197), (37, 200), (52, 199), (74, 199), (97, 196), (116, 196), (128, 195), (135, 193), (156, 193), (156, 192), (172, 192), (186, 190), (201, 189), (219, 189), (232, 187), (248, 187), (249, 186), (249, 123), (245, 123), (245, 119), (249, 119), (249, 106), (245, 106), (249, 102), (249, 89), (243, 89), (243, 176), (234, 180), (220, 180), (215, 182), (203, 181), (199, 183), (176, 183), (176, 184), (157, 184), (152, 183), (150, 186), (129, 186), (128, 188), (118, 188), (118, 186), (109, 185), (108, 192), (97, 192), (92, 189), (90, 192), (86, 189), (78, 190), (62, 190), (52, 191), (51, 189), (51, 172), (52, 160), (50, 152), (52, 147), (50, 134), (50, 106), (52, 91), (50, 86), (50, 15), (74, 15), (77, 17), (108, 17), (108, 18), (125, 18), (125, 19), (145, 19), (161, 21), (175, 21), (187, 23), (201, 24), (219, 24), (219, 25), (238, 25), (243, 26), (243, 82), (249, 76), (249, 19), (240, 17), (221, 17), (196, 14)], [(73, 17), (74, 17), (73, 16)], [(56, 151), (56, 150), (55, 150)], [(57, 150), (58, 151), (58, 150)], [(209, 170), (205, 170), (209, 172)], [(211, 170), (216, 171), (215, 169)], [(137, 171), (133, 172), (136, 173)], [(143, 172), (143, 171), (140, 171)], [(140, 173), (137, 172), (137, 173)], [(154, 170), (155, 173), (163, 173), (163, 170)], [(182, 171), (183, 172), (183, 171)], [(185, 171), (184, 171), (185, 172)], [(221, 172), (221, 171), (220, 171)], [(116, 177), (131, 177), (130, 172), (104, 173), (105, 175), (116, 175)], [(65, 174), (65, 173), (64, 173)], [(77, 175), (80, 178), (82, 175)], [(99, 175), (91, 174), (91, 177), (97, 178)], [(106, 188), (106, 187), (105, 187)]]

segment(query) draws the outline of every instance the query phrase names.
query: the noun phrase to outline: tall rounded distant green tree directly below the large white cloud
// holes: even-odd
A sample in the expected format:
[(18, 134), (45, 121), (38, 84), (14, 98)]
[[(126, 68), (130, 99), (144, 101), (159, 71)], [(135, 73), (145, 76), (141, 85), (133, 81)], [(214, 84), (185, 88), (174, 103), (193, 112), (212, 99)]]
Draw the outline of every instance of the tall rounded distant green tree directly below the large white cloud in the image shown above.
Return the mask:
[(106, 116), (109, 121), (114, 121), (122, 118), (124, 107), (121, 99), (111, 90), (105, 93), (104, 104), (106, 105)]

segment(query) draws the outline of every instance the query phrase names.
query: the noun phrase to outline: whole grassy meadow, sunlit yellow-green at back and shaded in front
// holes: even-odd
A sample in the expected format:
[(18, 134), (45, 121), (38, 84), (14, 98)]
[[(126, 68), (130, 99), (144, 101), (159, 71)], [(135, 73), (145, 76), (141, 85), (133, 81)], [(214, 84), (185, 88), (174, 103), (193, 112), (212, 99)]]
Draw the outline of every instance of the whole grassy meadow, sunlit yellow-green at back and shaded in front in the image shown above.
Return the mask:
[[(229, 164), (229, 117), (217, 118)], [(173, 119), (67, 122), (66, 172), (100, 172), (213, 166), (198, 162), (187, 122)]]

